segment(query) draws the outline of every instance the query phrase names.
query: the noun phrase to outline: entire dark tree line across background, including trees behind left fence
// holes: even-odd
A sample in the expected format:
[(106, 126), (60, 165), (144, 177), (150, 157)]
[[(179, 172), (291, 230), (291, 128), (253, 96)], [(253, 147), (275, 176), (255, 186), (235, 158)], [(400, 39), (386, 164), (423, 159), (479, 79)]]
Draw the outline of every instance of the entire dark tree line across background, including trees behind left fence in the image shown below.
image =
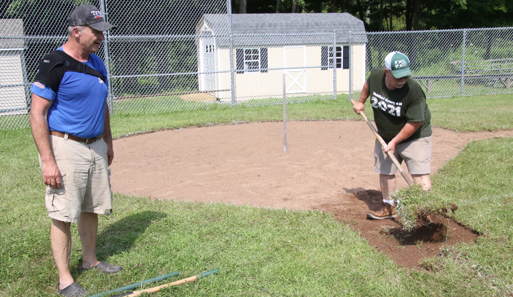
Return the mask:
[[(230, 0), (233, 13), (347, 12), (363, 20), (367, 32), (511, 27), (513, 0)], [(77, 3), (97, 0), (0, 0), (0, 18), (21, 18), (26, 36), (65, 36), (65, 20)], [(192, 89), (197, 77), (139, 75), (193, 72), (196, 45), (191, 38), (149, 38), (153, 35), (193, 35), (205, 13), (226, 13), (226, 0), (106, 0), (109, 21), (118, 27), (111, 40), (111, 68), (120, 78), (115, 92), (153, 92)], [(130, 37), (132, 36), (132, 37)], [(139, 36), (139, 39), (133, 39)], [(485, 36), (491, 45), (491, 36)], [(42, 53), (61, 45), (61, 39), (30, 39), (25, 59), (29, 76)], [(433, 42), (432, 40), (430, 40)], [(444, 40), (441, 41), (445, 42)], [(416, 44), (416, 43), (410, 43)], [(487, 49), (489, 46), (487, 47)], [(102, 49), (103, 50), (103, 49)], [(409, 52), (415, 52), (411, 50)], [(488, 51), (487, 51), (488, 52)], [(415, 58), (413, 55), (411, 58)], [(486, 55), (485, 55), (486, 58)], [(148, 87), (148, 88), (149, 88)]]

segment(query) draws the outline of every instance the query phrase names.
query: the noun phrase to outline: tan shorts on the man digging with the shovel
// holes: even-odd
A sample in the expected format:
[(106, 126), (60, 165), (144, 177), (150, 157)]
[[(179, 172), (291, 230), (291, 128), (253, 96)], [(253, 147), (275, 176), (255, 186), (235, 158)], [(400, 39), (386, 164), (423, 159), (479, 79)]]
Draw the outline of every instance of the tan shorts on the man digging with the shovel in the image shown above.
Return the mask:
[[(396, 156), (399, 163), (402, 163), (403, 160), (405, 161), (409, 174), (430, 174), (431, 136), (400, 143), (396, 145), (396, 151), (393, 155)], [(383, 147), (377, 139), (374, 145), (374, 160), (375, 172), (384, 175), (396, 174), (396, 165), (383, 152)]]

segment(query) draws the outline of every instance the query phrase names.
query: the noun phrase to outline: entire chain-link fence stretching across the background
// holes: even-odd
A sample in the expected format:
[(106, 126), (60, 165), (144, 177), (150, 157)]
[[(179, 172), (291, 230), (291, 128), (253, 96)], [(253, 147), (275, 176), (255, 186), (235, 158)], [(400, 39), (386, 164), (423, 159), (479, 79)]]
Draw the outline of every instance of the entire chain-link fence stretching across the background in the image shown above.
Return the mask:
[[(89, 3), (117, 26), (97, 53), (109, 72), (113, 116), (280, 104), (284, 83), (287, 102), (357, 96), (392, 50), (410, 57), (428, 97), (511, 91), (512, 28), (364, 33), (331, 25), (283, 34), (279, 22), (266, 21), (277, 31), (265, 33), (244, 24), (255, 15), (232, 15), (225, 0)], [(0, 4), (0, 129), (29, 126), (37, 62), (65, 43), (75, 5)]]

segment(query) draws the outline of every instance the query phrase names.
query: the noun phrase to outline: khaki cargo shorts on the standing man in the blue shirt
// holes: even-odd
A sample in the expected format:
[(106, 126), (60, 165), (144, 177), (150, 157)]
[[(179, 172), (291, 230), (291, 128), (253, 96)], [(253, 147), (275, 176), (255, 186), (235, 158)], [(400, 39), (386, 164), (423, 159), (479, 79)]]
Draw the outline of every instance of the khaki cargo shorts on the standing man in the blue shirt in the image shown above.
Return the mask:
[(107, 143), (100, 139), (85, 144), (52, 135), (50, 142), (63, 186), (46, 187), (48, 216), (74, 223), (81, 213), (112, 214)]

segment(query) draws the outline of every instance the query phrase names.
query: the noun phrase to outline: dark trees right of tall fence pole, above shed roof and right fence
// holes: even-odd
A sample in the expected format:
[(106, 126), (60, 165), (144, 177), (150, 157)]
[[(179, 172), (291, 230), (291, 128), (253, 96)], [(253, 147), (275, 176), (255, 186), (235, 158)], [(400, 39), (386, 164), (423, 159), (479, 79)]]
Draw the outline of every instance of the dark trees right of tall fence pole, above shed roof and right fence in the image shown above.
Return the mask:
[(511, 0), (231, 0), (233, 13), (347, 12), (367, 32), (513, 25)]

